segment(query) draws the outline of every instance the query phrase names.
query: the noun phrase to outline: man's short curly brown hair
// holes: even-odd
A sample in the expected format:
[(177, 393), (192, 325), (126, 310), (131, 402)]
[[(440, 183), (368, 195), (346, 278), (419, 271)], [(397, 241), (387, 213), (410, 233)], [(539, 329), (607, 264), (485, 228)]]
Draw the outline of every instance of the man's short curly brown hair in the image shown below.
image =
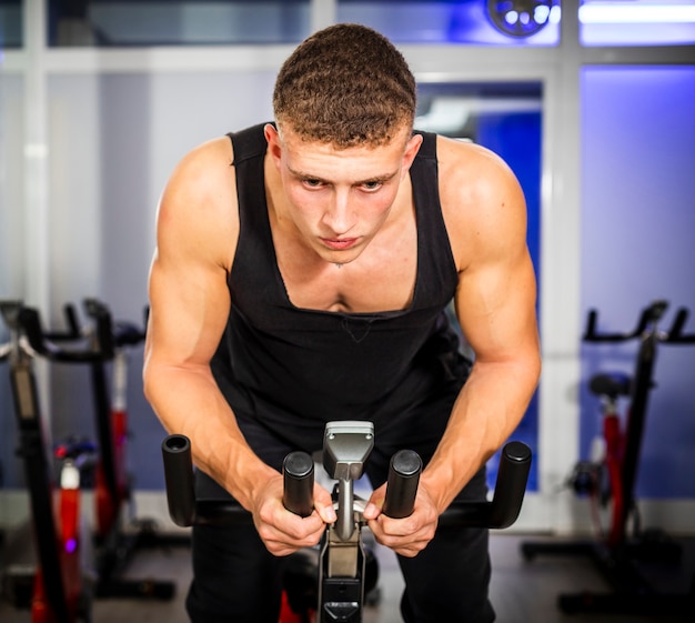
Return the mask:
[(412, 130), (416, 86), (403, 54), (371, 28), (339, 23), (303, 41), (282, 66), (275, 121), (339, 148), (390, 142)]

